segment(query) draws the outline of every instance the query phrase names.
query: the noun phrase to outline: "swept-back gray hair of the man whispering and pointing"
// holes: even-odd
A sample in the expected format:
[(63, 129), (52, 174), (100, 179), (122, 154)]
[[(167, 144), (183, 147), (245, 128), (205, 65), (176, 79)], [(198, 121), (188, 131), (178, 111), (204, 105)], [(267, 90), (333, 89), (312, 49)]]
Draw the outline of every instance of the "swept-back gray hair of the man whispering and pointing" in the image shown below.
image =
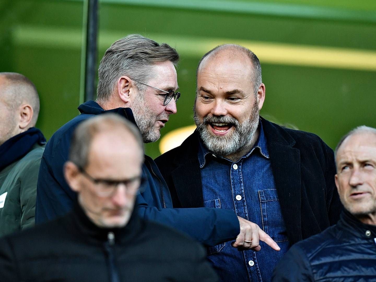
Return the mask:
[[(158, 44), (139, 34), (130, 34), (114, 42), (99, 64), (97, 101), (110, 99), (117, 80), (123, 76), (147, 82), (152, 76), (151, 67), (157, 62), (170, 61), (175, 66), (179, 54), (166, 43)], [(139, 90), (145, 85), (136, 83)]]

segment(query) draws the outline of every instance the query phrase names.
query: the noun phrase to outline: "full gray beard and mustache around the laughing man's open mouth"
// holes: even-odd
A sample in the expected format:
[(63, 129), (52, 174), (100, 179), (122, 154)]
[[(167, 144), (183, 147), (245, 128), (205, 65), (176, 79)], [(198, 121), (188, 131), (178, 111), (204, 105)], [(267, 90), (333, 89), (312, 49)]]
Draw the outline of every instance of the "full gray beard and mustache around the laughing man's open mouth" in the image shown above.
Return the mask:
[[(233, 117), (227, 116), (207, 115), (203, 119), (200, 119), (195, 109), (193, 118), (197, 126), (197, 131), (206, 148), (217, 155), (229, 156), (240, 152), (245, 146), (252, 142), (259, 124), (259, 109), (255, 101), (250, 117), (242, 123), (239, 123), (239, 121)], [(234, 130), (224, 136), (214, 135), (211, 130), (208, 129), (208, 123), (214, 122), (231, 123)]]

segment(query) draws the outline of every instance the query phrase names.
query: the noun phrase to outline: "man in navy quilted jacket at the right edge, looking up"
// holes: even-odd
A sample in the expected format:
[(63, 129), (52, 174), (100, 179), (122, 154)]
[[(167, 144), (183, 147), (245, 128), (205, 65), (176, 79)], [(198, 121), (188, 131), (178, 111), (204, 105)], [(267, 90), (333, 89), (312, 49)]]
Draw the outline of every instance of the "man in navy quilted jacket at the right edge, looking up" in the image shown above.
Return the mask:
[(335, 155), (340, 220), (291, 247), (273, 281), (376, 281), (376, 129), (353, 129)]

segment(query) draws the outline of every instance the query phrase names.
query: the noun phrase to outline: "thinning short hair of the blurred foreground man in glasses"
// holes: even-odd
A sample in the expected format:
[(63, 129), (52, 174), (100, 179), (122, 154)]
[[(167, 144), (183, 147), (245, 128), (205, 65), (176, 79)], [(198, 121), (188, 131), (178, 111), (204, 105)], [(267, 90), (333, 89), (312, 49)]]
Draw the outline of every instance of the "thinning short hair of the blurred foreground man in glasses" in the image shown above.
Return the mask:
[[(94, 136), (101, 132), (112, 130), (125, 130), (130, 132), (136, 139), (141, 152), (141, 158), (144, 156), (144, 144), (139, 129), (130, 121), (117, 114), (102, 114), (80, 123), (74, 130), (68, 160), (81, 168), (85, 168), (89, 161), (89, 150)], [(124, 140), (126, 146), (127, 140)]]

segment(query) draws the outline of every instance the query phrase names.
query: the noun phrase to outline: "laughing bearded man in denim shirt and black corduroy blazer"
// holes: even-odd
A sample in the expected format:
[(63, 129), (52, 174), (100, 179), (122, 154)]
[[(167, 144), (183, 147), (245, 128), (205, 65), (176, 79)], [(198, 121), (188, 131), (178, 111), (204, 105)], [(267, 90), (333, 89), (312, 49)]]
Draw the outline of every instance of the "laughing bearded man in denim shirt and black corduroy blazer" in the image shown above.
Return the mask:
[(252, 250), (209, 248), (221, 281), (270, 281), (291, 244), (340, 214), (333, 151), (312, 133), (259, 118), (264, 99), (257, 56), (239, 45), (216, 47), (197, 69), (196, 132), (156, 159), (174, 206), (232, 209), (280, 247), (276, 252), (249, 233)]

